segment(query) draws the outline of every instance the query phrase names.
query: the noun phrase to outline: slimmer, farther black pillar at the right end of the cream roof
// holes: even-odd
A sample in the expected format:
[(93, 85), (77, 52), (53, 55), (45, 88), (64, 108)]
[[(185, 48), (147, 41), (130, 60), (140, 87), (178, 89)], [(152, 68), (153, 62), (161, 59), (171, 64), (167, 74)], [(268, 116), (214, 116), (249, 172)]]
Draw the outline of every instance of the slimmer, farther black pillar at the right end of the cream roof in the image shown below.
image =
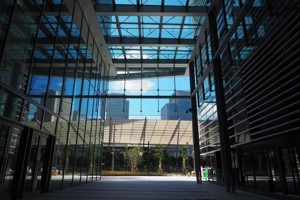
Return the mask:
[[(190, 71), (190, 93), (192, 94), (195, 85), (195, 70), (194, 64), (189, 64)], [(191, 97), (191, 107), (192, 107), (192, 130), (193, 130), (193, 148), (194, 148), (194, 171), (196, 174), (197, 183), (202, 183), (201, 178), (199, 178), (200, 172), (200, 147), (199, 147), (199, 133), (198, 133), (198, 117), (197, 117), (197, 104), (196, 96)]]

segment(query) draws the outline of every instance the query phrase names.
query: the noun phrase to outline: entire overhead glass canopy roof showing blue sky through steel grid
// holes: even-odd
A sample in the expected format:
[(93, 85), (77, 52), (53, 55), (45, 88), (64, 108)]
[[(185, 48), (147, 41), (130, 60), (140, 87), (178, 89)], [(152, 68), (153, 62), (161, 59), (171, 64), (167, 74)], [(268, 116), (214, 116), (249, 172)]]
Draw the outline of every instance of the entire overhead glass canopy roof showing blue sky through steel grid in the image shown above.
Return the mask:
[[(109, 6), (107, 10), (113, 9), (107, 13), (96, 12), (113, 62), (116, 59), (125, 59), (125, 63), (126, 59), (173, 59), (175, 63), (178, 59), (190, 59), (205, 20), (198, 10), (189, 13), (188, 7), (206, 7), (210, 3), (206, 0), (97, 0), (96, 4)], [(120, 11), (122, 5), (125, 12)], [(158, 9), (153, 14), (150, 9), (149, 13), (153, 16), (147, 16), (148, 12), (140, 15), (139, 11), (134, 11), (143, 5), (145, 8), (151, 5), (161, 7), (162, 11)], [(119, 11), (115, 10), (116, 6)], [(164, 13), (164, 7), (168, 6), (175, 6), (176, 9), (182, 7), (186, 13), (182, 14), (184, 16)], [(128, 13), (130, 9), (133, 10), (132, 16), (130, 11)]]

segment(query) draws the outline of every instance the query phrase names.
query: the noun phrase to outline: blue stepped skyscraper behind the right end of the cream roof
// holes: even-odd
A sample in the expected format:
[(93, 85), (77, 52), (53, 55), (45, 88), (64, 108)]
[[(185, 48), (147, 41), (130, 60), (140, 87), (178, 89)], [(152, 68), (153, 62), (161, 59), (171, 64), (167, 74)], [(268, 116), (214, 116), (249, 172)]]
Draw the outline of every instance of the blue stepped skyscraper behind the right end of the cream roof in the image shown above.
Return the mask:
[[(175, 91), (172, 96), (186, 96), (190, 95), (189, 91)], [(190, 108), (190, 99), (170, 99), (169, 103), (166, 103), (161, 108), (161, 119), (162, 120), (181, 120), (190, 121), (192, 120), (191, 113), (186, 114), (186, 110)]]

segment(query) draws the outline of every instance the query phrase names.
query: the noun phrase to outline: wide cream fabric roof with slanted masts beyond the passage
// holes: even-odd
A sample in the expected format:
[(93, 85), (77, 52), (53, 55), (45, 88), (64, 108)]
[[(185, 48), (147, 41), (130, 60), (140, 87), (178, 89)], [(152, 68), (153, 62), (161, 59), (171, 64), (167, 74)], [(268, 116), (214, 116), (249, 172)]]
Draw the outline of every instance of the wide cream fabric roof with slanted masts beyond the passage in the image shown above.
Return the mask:
[[(141, 119), (106, 119), (104, 143), (113, 143), (113, 127), (116, 124), (115, 143), (119, 144), (177, 144), (193, 142), (192, 121), (181, 120), (141, 120)], [(111, 128), (110, 128), (111, 126)], [(144, 135), (145, 134), (145, 135)]]

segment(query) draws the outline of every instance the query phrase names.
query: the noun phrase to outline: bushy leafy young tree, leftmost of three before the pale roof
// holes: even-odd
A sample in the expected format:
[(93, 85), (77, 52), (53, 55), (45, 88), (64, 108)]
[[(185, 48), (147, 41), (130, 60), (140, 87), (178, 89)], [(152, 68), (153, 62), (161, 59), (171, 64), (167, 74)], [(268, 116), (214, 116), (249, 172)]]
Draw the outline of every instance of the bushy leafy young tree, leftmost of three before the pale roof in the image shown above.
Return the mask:
[(125, 148), (124, 160), (131, 167), (131, 172), (137, 171), (137, 166), (143, 162), (143, 153), (141, 145), (132, 146), (130, 149)]

